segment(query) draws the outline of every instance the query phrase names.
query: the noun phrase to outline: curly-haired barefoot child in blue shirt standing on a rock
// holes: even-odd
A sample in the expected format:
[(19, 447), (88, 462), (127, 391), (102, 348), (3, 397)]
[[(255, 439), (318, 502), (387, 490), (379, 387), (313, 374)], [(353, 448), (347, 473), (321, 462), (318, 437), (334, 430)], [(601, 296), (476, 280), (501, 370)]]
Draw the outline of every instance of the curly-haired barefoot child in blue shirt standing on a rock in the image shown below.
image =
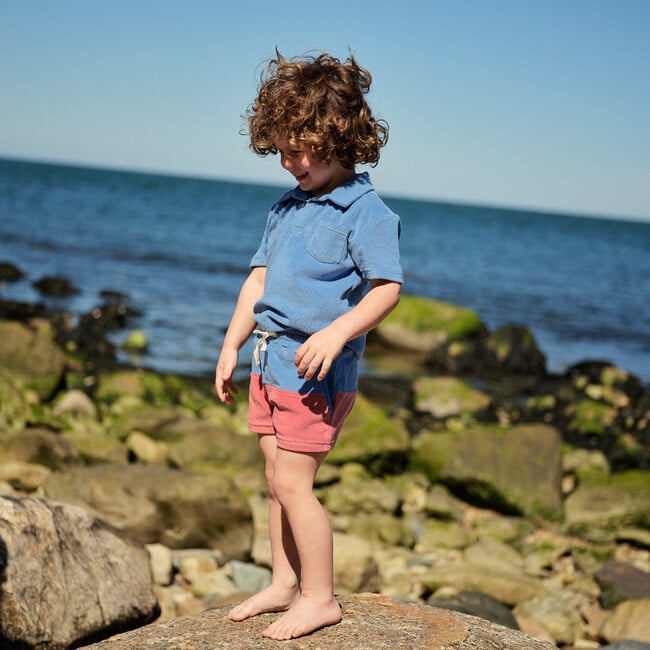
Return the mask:
[(270, 211), (215, 374), (232, 403), (238, 353), (254, 333), (248, 423), (265, 459), (273, 574), (229, 617), (286, 612), (264, 630), (272, 639), (341, 620), (332, 529), (313, 482), (354, 403), (365, 334), (399, 302), (399, 219), (354, 169), (376, 164), (388, 137), (366, 103), (370, 83), (352, 54), (278, 54), (247, 112), (251, 148), (279, 153), (298, 183)]

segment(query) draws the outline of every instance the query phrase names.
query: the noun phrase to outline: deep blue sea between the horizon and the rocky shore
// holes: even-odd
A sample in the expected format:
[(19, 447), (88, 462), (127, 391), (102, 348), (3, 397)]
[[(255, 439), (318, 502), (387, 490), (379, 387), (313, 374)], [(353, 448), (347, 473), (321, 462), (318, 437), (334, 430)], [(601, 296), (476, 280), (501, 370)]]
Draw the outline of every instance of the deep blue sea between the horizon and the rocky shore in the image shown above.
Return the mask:
[[(76, 316), (126, 293), (150, 341), (131, 361), (209, 375), (286, 189), (0, 160), (0, 261), (27, 274), (0, 295)], [(382, 198), (402, 220), (404, 293), (526, 325), (552, 372), (605, 360), (650, 383), (650, 223)], [(44, 275), (80, 293), (46, 299), (31, 286)]]

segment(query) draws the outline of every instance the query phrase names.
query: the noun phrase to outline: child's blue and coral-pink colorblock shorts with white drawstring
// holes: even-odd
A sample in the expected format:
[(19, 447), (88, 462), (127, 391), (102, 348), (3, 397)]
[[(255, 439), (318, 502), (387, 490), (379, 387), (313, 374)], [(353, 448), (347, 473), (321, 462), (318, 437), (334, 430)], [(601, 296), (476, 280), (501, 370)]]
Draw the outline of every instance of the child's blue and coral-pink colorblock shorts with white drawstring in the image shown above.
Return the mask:
[(294, 364), (305, 335), (257, 336), (249, 390), (250, 430), (275, 435), (278, 447), (289, 451), (330, 451), (357, 395), (357, 355), (344, 348), (323, 381), (315, 377), (307, 381)]

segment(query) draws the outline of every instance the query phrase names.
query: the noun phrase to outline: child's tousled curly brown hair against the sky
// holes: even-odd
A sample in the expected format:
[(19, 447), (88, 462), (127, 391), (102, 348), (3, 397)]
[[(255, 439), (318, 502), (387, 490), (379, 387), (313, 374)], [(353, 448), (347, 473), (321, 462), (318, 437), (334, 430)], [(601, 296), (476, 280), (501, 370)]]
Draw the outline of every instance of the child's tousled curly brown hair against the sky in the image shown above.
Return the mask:
[(351, 52), (341, 63), (327, 53), (286, 59), (276, 50), (244, 115), (251, 149), (259, 156), (276, 154), (277, 139), (286, 138), (324, 163), (335, 157), (346, 169), (376, 165), (388, 124), (375, 119), (366, 102), (371, 82)]

